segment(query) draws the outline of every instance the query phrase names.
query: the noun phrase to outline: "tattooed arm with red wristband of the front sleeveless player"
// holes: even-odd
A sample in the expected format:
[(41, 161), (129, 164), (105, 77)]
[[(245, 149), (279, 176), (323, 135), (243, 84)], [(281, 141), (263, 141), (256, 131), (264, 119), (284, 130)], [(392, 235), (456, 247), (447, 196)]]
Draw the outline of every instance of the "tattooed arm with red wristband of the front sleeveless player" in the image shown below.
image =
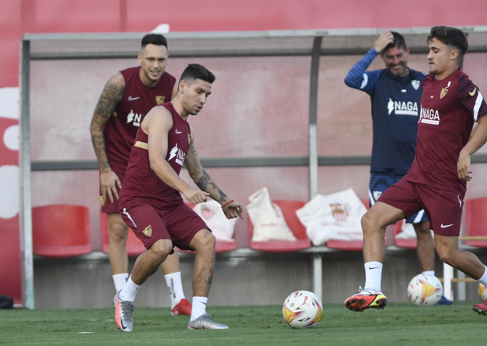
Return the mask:
[(223, 192), (222, 189), (218, 187), (218, 185), (213, 181), (213, 179), (206, 172), (206, 170), (201, 166), (198, 153), (194, 146), (194, 134), (192, 130), (191, 144), (189, 146), (189, 150), (187, 152), (184, 164), (193, 182), (196, 183), (196, 185), (202, 191), (208, 193), (212, 199), (222, 204), (222, 209), (227, 219), (233, 219), (237, 217), (243, 219), (242, 205), (238, 202), (232, 202), (233, 200), (229, 200), (225, 192)]

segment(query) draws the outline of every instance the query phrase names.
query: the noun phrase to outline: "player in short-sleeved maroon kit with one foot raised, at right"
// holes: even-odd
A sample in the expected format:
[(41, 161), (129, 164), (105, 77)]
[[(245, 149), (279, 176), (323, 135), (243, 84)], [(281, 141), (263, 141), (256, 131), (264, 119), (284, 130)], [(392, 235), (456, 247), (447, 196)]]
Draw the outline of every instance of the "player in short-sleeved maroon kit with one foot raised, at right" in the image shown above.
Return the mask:
[[(470, 155), (487, 141), (487, 104), (479, 88), (458, 68), (468, 50), (465, 34), (435, 26), (428, 44), (430, 74), (423, 80), (416, 155), (408, 174), (362, 217), (365, 286), (345, 301), (353, 311), (383, 309), (387, 304), (381, 292), (384, 229), (421, 209), (430, 220), (440, 259), (487, 284), (487, 267), (458, 247), (464, 196), (472, 179)], [(472, 133), (474, 122), (478, 126)], [(487, 301), (472, 309), (486, 315)]]

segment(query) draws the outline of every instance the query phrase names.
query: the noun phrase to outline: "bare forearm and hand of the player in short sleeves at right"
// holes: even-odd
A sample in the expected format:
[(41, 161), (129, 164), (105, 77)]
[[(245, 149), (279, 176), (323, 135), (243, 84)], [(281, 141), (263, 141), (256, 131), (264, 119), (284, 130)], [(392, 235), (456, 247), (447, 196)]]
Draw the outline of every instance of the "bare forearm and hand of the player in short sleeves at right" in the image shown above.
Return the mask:
[(458, 178), (469, 182), (472, 177), (470, 173), (470, 155), (479, 150), (487, 142), (487, 114), (477, 118), (479, 123), (472, 132), (468, 143), (460, 151), (458, 156), (457, 171)]

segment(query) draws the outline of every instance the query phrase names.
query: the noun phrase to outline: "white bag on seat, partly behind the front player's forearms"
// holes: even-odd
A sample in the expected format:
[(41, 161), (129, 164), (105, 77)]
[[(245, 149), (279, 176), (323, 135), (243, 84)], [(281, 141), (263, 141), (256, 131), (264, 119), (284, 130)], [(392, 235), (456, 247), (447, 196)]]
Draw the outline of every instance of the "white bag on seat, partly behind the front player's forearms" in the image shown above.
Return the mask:
[(222, 211), (222, 206), (215, 200), (208, 198), (205, 203), (198, 203), (193, 210), (211, 229), (216, 240), (234, 242), (233, 231), (237, 219), (228, 220)]

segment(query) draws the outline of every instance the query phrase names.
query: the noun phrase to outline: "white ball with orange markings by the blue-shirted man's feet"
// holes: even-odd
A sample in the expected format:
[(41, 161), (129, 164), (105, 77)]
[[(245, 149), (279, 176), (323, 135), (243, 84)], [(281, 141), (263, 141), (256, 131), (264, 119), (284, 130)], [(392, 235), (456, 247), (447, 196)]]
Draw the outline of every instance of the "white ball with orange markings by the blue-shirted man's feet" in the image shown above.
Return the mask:
[(414, 305), (435, 305), (443, 296), (443, 285), (436, 276), (418, 274), (408, 285), (408, 296)]

